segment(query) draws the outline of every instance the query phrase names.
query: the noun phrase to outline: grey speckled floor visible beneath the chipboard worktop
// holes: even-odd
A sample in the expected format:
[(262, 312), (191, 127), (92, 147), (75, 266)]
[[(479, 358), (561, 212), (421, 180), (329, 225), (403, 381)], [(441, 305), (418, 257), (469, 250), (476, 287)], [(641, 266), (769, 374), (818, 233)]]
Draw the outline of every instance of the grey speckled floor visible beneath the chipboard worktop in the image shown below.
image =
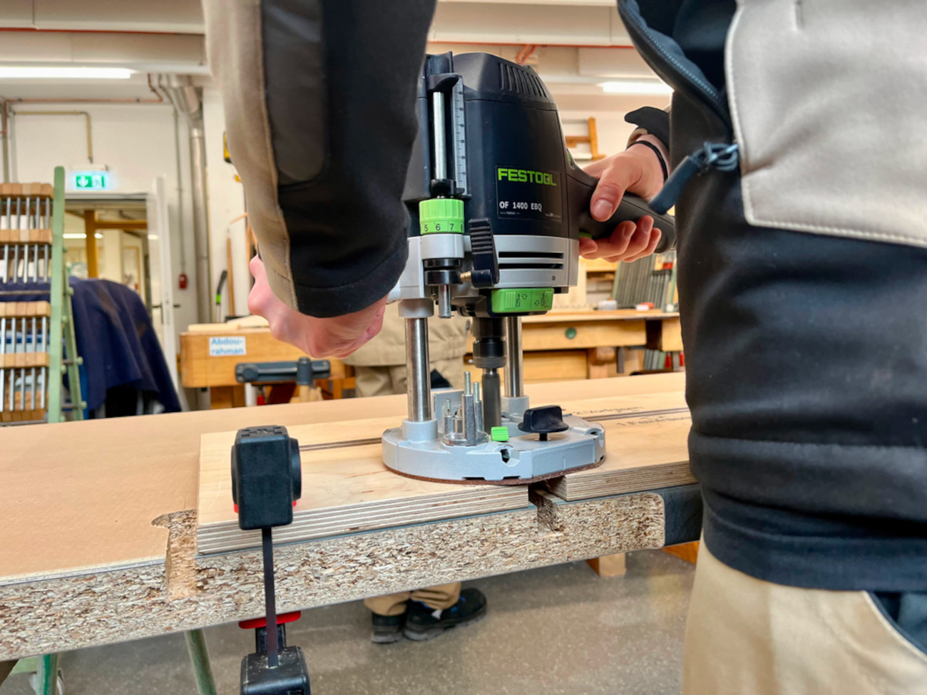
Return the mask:
[[(430, 642), (372, 644), (360, 602), (304, 612), (287, 638), (306, 652), (314, 695), (678, 693), (693, 574), (647, 550), (611, 579), (574, 562), (472, 582), (487, 617)], [(220, 695), (237, 695), (252, 635), (206, 630)], [(62, 668), (65, 695), (196, 695), (180, 635), (70, 652)], [(32, 695), (27, 676), (10, 676), (0, 695)]]

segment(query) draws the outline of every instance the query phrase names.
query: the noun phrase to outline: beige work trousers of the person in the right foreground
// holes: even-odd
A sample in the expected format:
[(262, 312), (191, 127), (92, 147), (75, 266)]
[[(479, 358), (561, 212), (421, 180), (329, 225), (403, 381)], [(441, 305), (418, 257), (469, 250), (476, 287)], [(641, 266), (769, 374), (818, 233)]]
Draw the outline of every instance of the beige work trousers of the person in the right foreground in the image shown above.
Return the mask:
[(771, 584), (699, 548), (683, 695), (921, 695), (927, 654), (865, 591)]

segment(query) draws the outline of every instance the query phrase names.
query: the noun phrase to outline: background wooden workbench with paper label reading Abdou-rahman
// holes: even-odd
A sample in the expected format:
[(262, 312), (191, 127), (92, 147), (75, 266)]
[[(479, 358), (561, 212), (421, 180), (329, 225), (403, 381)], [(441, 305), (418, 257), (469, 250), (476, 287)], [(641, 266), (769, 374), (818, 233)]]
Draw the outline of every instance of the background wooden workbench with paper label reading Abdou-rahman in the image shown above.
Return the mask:
[[(222, 323), (199, 324), (208, 330), (180, 335), (181, 380), (186, 388), (234, 386), (235, 365), (240, 362), (296, 361), (306, 353), (271, 335), (269, 328), (227, 328)], [(245, 355), (210, 356), (210, 337), (244, 337)], [(332, 378), (345, 378), (345, 363), (331, 359)]]

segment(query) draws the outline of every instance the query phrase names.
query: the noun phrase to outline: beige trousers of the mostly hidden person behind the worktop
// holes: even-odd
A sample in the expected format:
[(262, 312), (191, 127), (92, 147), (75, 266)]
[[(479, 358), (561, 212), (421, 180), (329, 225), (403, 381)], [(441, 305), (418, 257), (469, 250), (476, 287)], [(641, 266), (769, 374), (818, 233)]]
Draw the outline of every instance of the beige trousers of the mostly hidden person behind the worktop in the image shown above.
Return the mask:
[[(431, 368), (437, 369), (441, 376), (451, 382), (454, 388), (464, 387), (464, 360), (432, 360)], [(354, 367), (354, 380), (357, 384), (357, 395), (362, 398), (370, 396), (388, 396), (389, 394), (405, 393), (406, 370), (405, 365), (391, 365), (387, 367)], [(460, 582), (442, 584), (439, 587), (420, 588), (415, 591), (400, 591), (398, 594), (377, 596), (365, 599), (363, 604), (378, 615), (400, 615), (405, 613), (407, 600), (420, 600), (428, 608), (451, 608), (460, 598)]]

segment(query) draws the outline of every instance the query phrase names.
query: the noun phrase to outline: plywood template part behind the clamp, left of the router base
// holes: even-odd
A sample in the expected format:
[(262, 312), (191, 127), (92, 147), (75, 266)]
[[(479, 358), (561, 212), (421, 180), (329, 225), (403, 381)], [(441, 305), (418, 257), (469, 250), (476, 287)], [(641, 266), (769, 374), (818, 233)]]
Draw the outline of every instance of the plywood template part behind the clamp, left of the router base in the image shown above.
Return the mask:
[[(293, 524), (274, 530), (278, 543), (522, 509), (527, 487), (448, 485), (392, 473), (380, 436), (400, 418), (289, 427), (302, 449), (302, 499)], [(229, 465), (234, 432), (200, 442), (200, 553), (260, 546), (260, 532), (238, 528)], [(328, 445), (328, 446), (326, 446)], [(334, 445), (334, 446), (332, 446)]]

